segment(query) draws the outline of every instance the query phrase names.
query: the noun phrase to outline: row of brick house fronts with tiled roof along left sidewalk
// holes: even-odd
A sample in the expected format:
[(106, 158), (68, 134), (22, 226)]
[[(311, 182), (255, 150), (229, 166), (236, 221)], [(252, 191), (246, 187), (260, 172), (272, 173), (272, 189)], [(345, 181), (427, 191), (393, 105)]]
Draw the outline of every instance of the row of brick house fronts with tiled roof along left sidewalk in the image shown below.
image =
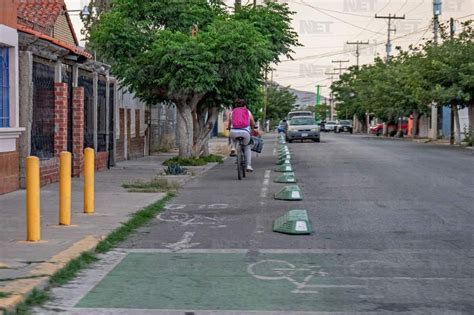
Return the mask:
[(25, 185), (30, 155), (44, 185), (59, 180), (62, 151), (73, 176), (87, 147), (97, 170), (148, 154), (147, 108), (109, 73), (78, 47), (63, 0), (0, 2), (0, 194)]

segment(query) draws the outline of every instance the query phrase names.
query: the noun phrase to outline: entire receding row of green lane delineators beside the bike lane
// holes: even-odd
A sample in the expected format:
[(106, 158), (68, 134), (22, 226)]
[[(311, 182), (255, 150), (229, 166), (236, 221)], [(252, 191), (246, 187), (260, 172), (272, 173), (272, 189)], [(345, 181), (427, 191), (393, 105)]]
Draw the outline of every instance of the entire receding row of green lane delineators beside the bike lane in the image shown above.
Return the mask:
[[(280, 173), (275, 183), (293, 184), (282, 187), (274, 197), (276, 200), (300, 201), (304, 195), (296, 185), (296, 175), (291, 165), (291, 154), (283, 135), (278, 136), (278, 162), (275, 172)], [(285, 234), (311, 234), (313, 227), (304, 209), (293, 209), (273, 221), (273, 231)]]

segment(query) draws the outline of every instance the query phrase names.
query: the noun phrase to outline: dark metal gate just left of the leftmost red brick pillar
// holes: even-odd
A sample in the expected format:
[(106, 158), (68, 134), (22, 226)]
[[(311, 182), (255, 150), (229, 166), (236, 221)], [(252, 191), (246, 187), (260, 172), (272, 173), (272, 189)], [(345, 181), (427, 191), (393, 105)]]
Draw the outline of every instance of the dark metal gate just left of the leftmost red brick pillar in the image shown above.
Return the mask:
[(31, 155), (54, 156), (54, 66), (46, 62), (33, 62)]

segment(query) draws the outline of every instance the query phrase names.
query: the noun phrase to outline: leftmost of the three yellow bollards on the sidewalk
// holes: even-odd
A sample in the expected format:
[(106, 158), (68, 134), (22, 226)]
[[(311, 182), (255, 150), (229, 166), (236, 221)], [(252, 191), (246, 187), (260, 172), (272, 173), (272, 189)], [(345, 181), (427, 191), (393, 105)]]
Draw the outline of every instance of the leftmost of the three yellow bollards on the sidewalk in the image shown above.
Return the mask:
[(41, 240), (40, 171), (36, 156), (26, 158), (26, 240)]

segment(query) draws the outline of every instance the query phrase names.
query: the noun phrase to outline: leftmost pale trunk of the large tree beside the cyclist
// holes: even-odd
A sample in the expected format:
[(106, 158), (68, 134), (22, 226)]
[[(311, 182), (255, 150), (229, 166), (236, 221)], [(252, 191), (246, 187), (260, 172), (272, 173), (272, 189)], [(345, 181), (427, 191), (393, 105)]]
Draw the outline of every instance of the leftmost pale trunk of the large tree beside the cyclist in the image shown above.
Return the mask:
[(193, 111), (186, 104), (178, 105), (177, 109), (179, 157), (189, 158), (193, 156)]

